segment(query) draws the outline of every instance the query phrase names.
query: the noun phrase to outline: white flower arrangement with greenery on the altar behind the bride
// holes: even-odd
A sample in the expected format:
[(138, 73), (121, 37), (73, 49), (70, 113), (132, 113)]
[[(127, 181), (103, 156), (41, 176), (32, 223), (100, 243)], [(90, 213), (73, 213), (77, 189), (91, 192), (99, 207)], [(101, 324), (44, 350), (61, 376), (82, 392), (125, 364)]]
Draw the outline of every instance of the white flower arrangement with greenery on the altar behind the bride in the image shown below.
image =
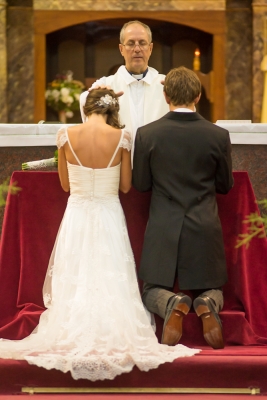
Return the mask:
[(45, 92), (47, 105), (55, 111), (64, 111), (67, 118), (73, 117), (73, 111), (79, 110), (79, 99), (84, 90), (84, 84), (72, 77), (72, 71), (58, 74)]

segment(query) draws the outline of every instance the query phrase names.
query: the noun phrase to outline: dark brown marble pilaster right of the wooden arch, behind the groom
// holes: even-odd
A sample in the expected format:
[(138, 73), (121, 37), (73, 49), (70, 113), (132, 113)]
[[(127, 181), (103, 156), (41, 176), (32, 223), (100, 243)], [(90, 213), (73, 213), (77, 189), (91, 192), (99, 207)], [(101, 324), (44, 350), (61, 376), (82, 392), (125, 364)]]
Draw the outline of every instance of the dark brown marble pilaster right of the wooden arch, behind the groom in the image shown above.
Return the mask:
[(227, 0), (225, 119), (252, 119), (251, 0)]

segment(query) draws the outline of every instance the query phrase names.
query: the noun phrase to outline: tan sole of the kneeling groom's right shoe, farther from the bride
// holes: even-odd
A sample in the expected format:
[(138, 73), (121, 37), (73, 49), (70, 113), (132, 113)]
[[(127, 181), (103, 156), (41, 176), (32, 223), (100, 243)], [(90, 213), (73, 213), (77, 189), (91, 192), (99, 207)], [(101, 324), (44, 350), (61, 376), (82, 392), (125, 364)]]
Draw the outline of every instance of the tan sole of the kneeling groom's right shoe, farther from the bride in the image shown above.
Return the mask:
[[(204, 301), (203, 301), (204, 302)], [(223, 349), (224, 340), (222, 328), (212, 311), (205, 304), (200, 304), (195, 308), (196, 314), (201, 318), (203, 324), (203, 336), (209, 346), (213, 349)]]

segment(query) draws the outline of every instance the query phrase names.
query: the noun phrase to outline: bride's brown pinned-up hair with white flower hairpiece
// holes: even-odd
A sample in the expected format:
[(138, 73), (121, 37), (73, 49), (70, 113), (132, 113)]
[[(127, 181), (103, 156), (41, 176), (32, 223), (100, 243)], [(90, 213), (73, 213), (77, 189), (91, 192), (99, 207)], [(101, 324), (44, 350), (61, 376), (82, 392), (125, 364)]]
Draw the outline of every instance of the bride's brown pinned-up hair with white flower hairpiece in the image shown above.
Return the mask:
[(119, 121), (118, 96), (112, 89), (92, 89), (83, 107), (84, 114), (89, 117), (92, 114), (107, 115), (107, 124), (114, 128), (124, 128)]

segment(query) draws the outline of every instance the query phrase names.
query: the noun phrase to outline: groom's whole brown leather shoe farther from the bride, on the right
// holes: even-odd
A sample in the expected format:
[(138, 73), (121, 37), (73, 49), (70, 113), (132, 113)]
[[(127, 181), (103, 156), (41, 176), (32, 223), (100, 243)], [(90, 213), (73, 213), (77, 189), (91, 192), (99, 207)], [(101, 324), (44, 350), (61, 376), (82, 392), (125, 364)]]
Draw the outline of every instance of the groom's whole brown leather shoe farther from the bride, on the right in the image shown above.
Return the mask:
[(194, 300), (194, 309), (203, 324), (203, 335), (213, 349), (223, 349), (224, 341), (222, 334), (222, 323), (215, 310), (212, 299), (208, 296), (199, 296)]

